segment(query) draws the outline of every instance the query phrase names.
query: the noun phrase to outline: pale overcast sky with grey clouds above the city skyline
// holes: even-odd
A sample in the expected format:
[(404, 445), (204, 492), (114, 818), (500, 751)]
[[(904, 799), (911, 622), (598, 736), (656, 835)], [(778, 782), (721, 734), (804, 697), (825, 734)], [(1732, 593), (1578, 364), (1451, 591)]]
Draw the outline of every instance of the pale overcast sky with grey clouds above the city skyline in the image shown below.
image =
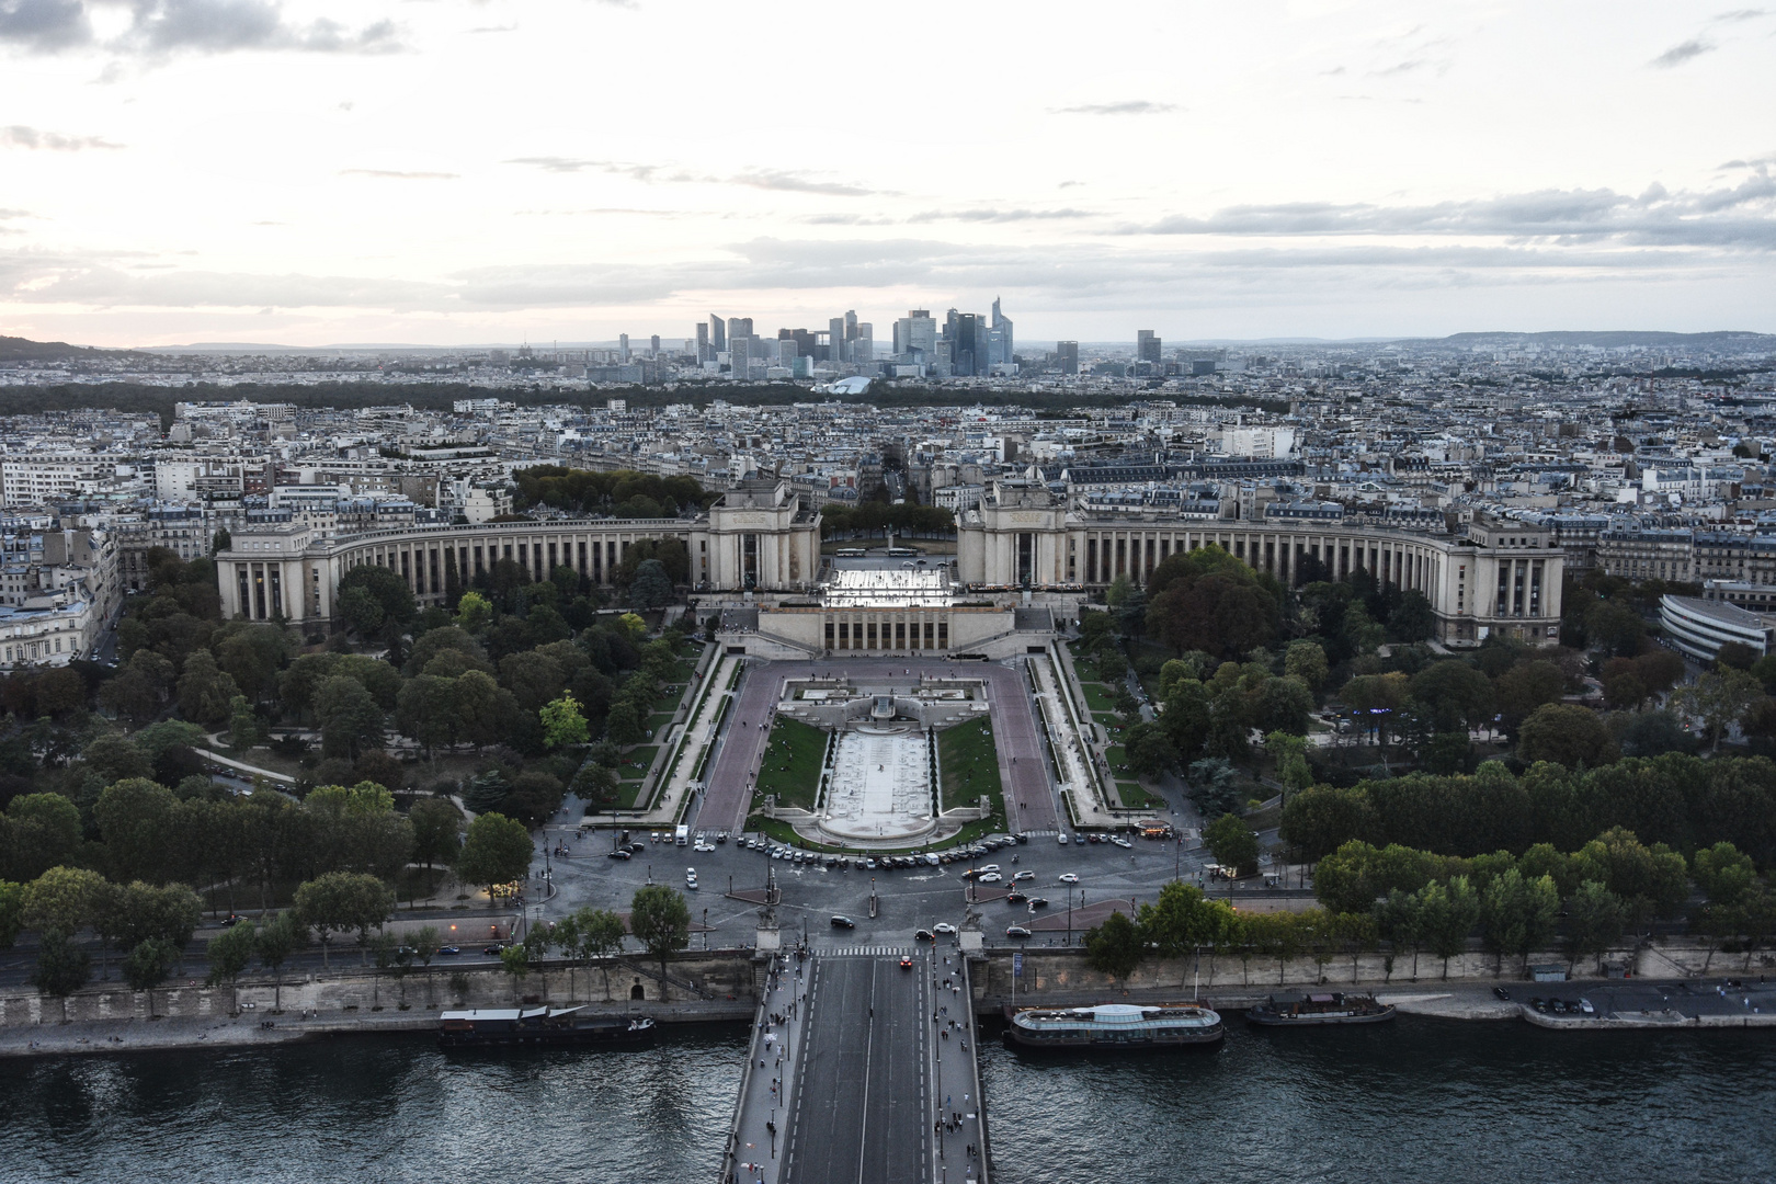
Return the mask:
[(0, 334), (1776, 332), (1742, 0), (0, 0)]

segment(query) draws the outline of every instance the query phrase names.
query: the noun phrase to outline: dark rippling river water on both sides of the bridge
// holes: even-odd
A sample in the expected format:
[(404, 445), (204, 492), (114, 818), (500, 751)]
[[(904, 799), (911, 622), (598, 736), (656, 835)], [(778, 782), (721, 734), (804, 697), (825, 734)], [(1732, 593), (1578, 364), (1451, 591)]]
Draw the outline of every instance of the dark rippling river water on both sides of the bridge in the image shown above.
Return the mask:
[[(986, 1042), (996, 1179), (1776, 1179), (1776, 1031), (1229, 1028), (1220, 1051), (1170, 1056)], [(744, 1040), (726, 1026), (622, 1053), (446, 1058), (401, 1037), (0, 1062), (0, 1180), (707, 1184)]]

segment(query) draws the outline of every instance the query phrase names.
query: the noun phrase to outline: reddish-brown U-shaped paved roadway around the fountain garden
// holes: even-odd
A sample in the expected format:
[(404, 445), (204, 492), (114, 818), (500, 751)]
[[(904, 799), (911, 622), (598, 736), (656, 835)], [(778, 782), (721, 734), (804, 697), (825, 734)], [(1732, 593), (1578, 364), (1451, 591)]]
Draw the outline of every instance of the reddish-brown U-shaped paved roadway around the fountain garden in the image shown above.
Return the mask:
[(1023, 664), (845, 655), (817, 662), (753, 660), (748, 664), (739, 699), (723, 724), (721, 751), (716, 753), (709, 774), (709, 792), (696, 817), (698, 829), (739, 833), (746, 827), (758, 762), (771, 738), (769, 728), (760, 728), (760, 724), (771, 721), (783, 680), (808, 678), (810, 675), (847, 675), (854, 683), (892, 683), (909, 689), (918, 685), (920, 675), (984, 678), (987, 698), (993, 703), (993, 742), (998, 749), (1005, 809), (1016, 815), (1007, 818), (1007, 824), (1014, 831), (1055, 831), (1060, 827), (1048, 760), (1043, 753), (1043, 735), (1030, 699), (1030, 680)]

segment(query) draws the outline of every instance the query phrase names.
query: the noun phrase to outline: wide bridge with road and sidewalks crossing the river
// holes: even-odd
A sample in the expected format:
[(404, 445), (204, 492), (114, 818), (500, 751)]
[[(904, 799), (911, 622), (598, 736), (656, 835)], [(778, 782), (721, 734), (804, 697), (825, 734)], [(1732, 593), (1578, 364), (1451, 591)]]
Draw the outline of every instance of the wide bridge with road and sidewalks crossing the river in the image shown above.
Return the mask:
[(986, 1184), (984, 1133), (959, 950), (773, 960), (723, 1184)]

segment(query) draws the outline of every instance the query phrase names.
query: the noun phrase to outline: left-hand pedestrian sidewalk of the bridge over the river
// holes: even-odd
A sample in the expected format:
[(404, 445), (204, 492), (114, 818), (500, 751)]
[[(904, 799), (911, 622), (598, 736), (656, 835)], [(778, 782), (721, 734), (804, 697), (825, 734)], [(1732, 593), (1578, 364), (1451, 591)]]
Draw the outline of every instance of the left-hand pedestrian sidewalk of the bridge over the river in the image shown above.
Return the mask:
[(813, 960), (780, 953), (760, 996), (746, 1076), (735, 1108), (733, 1141), (723, 1163), (725, 1184), (776, 1184), (783, 1170), (785, 1115), (794, 1058), (801, 1056)]

